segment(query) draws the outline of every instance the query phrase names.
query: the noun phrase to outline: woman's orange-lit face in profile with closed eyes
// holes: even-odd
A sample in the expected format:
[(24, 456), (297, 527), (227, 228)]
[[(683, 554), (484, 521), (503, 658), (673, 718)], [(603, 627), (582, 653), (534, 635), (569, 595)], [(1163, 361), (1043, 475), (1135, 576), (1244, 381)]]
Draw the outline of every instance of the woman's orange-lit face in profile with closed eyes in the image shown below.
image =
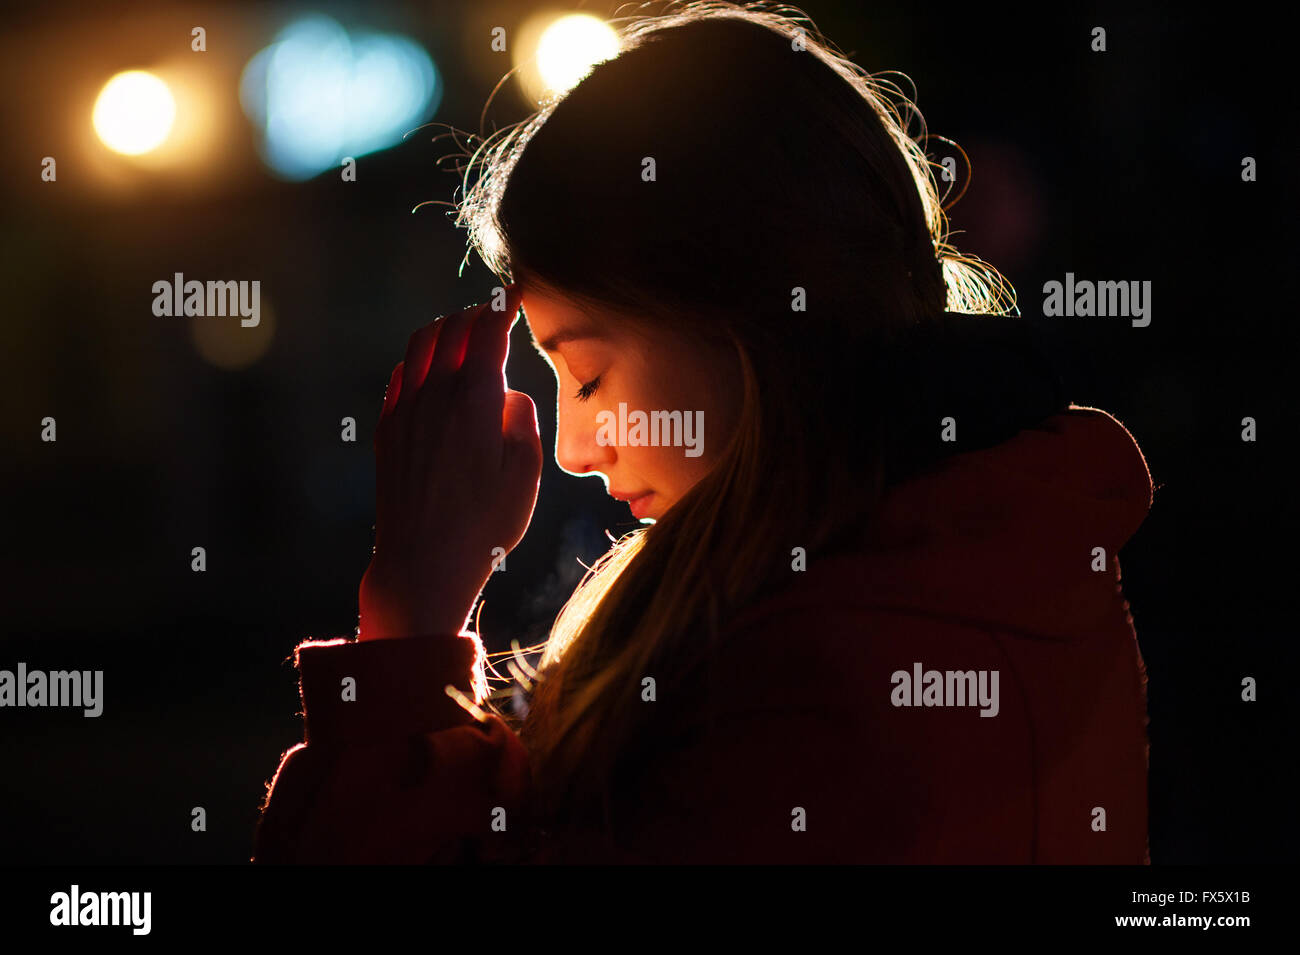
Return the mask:
[(731, 437), (733, 361), (550, 291), (525, 287), (523, 305), (559, 387), (555, 463), (571, 474), (601, 474), (637, 518), (662, 517)]

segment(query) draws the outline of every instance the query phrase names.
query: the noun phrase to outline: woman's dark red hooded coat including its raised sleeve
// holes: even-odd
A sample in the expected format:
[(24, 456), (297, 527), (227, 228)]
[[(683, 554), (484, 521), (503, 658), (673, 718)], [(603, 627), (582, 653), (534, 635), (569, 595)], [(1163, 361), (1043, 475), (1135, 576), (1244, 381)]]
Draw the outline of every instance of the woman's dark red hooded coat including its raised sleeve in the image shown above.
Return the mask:
[(732, 621), (744, 656), (715, 730), (640, 760), (616, 848), (520, 855), (528, 754), (442, 691), (469, 693), (474, 637), (304, 642), (304, 742), (254, 860), (1149, 863), (1145, 670), (1115, 554), (1150, 503), (1128, 431), (1078, 407), (898, 485), (871, 550), (792, 570)]

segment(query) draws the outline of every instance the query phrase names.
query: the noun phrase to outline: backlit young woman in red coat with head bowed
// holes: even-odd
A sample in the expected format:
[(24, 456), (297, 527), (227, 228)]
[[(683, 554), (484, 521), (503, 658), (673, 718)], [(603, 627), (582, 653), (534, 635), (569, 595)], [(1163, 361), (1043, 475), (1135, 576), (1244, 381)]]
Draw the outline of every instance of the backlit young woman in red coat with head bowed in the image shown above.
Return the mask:
[[(358, 638), (296, 650), (255, 860), (1148, 861), (1134, 439), (1065, 399), (810, 23), (621, 36), (476, 156), (460, 222), (511, 285), (393, 373)], [(650, 522), (511, 663), (511, 713), (465, 626), (537, 498), (520, 305), (558, 464)]]

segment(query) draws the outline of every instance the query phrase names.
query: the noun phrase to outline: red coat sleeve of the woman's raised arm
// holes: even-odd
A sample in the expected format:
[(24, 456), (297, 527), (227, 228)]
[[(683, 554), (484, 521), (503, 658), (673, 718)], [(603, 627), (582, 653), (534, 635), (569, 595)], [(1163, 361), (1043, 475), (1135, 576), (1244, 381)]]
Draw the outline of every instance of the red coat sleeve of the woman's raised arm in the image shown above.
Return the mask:
[(494, 713), (476, 717), (473, 634), (306, 641), (294, 651), (304, 733), (281, 758), (255, 863), (516, 861), (529, 767)]

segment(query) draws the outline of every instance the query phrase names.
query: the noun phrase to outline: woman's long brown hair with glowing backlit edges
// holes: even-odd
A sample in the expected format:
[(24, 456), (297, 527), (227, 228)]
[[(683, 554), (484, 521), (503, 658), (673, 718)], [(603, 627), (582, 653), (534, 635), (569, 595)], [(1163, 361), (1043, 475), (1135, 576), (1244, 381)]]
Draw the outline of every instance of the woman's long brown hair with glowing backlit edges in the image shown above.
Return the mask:
[(608, 820), (620, 754), (664, 709), (641, 702), (646, 677), (664, 696), (742, 654), (727, 621), (790, 579), (794, 548), (862, 541), (887, 486), (890, 396), (871, 369), (889, 343), (944, 311), (1014, 311), (1001, 275), (948, 244), (911, 101), (779, 9), (623, 22), (616, 57), (467, 169), (458, 223), (498, 275), (725, 343), (740, 369), (716, 466), (616, 542), (545, 644), (516, 725), (555, 816), (590, 802)]

